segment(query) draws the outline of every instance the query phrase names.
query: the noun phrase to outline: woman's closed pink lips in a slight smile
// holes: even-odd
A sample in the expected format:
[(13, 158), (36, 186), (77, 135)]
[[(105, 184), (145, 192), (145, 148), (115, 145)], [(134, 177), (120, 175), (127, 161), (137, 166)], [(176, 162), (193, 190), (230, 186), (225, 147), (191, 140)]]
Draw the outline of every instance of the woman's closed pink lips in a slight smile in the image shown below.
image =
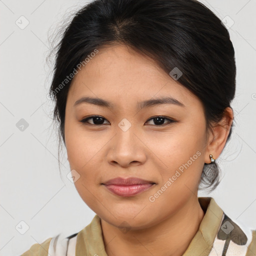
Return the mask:
[(111, 192), (121, 196), (135, 195), (149, 189), (153, 184), (155, 184), (153, 181), (136, 177), (117, 177), (103, 183)]

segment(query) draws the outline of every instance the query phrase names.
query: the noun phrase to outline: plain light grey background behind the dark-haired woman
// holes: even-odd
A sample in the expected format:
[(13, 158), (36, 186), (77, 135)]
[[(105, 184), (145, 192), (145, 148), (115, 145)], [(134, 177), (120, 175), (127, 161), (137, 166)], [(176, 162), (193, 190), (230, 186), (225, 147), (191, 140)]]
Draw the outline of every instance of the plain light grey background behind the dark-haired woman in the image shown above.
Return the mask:
[[(51, 79), (45, 64), (47, 36), (86, 2), (0, 0), (0, 255), (21, 254), (59, 232), (78, 232), (95, 215), (66, 178), (65, 152), (59, 174), (53, 104), (46, 98)], [(256, 228), (256, 0), (202, 2), (227, 25), (234, 22), (229, 32), (237, 87), (231, 105), (235, 127), (218, 158), (222, 181), (214, 192), (198, 195), (214, 197), (234, 221)], [(21, 15), (29, 21), (24, 29), (15, 23), (21, 23)], [(21, 118), (28, 123), (23, 131), (16, 126)], [(20, 221), (29, 226), (24, 234), (18, 232), (25, 228)]]

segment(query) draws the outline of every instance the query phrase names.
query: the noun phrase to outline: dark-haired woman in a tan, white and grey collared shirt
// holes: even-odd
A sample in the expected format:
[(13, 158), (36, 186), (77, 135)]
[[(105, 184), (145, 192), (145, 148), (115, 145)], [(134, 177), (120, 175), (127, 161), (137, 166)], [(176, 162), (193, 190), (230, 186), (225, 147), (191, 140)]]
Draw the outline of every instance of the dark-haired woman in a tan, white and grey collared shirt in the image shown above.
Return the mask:
[(22, 255), (256, 255), (212, 197), (231, 135), (234, 49), (195, 0), (95, 0), (58, 44), (50, 95), (70, 177), (96, 213)]

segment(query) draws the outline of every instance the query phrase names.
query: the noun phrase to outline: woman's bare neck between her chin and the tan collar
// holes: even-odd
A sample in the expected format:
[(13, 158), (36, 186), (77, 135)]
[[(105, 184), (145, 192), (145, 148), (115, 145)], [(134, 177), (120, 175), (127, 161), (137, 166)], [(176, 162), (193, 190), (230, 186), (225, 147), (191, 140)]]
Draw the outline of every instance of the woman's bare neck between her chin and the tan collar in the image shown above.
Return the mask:
[(181, 256), (197, 232), (203, 216), (197, 197), (192, 197), (160, 223), (145, 229), (130, 229), (129, 235), (101, 219), (105, 251), (108, 256)]

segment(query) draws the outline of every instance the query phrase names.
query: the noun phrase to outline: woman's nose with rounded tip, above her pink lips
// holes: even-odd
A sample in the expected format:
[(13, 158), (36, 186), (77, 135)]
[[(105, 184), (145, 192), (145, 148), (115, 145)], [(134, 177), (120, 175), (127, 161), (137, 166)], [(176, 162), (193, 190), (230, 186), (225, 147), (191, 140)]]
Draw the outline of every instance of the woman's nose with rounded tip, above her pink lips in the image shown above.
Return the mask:
[(127, 130), (116, 127), (116, 133), (109, 144), (107, 160), (122, 167), (143, 164), (146, 160), (146, 145), (139, 132), (132, 125)]

